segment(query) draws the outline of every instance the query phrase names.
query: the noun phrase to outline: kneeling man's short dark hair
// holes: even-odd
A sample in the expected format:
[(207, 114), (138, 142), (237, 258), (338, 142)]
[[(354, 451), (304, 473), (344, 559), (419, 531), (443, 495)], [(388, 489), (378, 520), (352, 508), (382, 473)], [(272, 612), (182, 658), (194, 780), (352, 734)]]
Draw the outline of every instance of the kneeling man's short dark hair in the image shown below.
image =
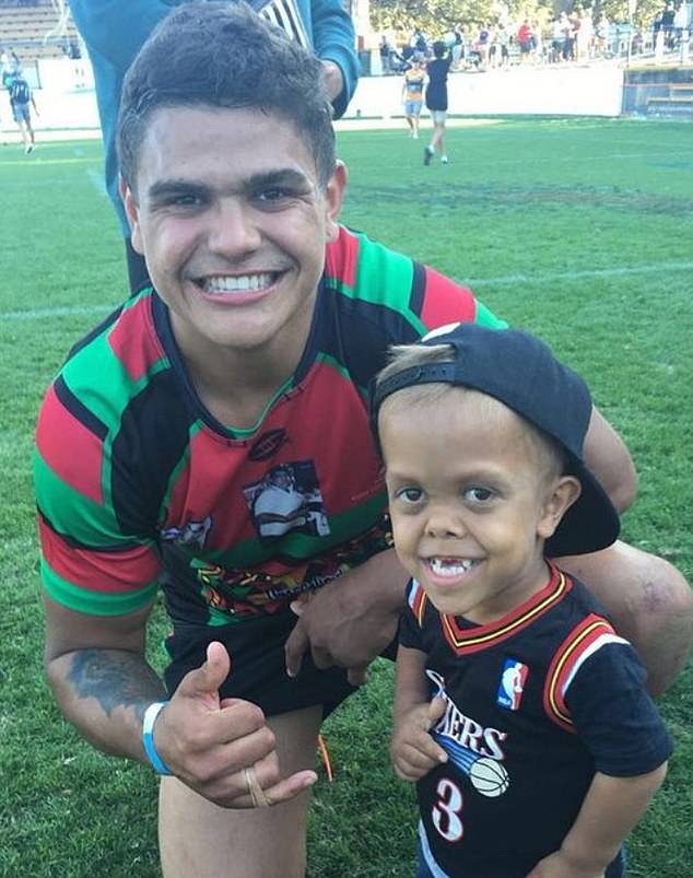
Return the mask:
[(162, 107), (259, 109), (294, 124), (321, 186), (334, 169), (322, 66), (245, 2), (192, 2), (153, 31), (126, 74), (118, 115), (120, 173), (134, 189), (151, 115)]

